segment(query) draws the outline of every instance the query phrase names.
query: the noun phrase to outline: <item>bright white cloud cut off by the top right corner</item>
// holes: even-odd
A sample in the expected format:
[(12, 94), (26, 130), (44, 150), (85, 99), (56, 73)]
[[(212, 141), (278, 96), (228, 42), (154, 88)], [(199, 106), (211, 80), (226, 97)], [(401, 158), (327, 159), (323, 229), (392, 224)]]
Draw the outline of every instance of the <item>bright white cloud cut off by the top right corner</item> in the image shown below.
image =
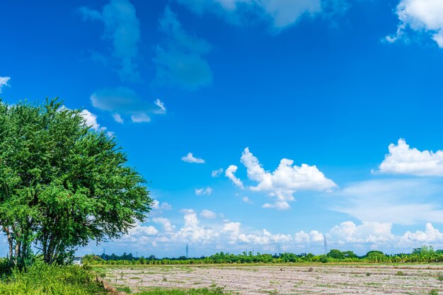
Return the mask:
[(443, 48), (443, 2), (439, 0), (401, 0), (397, 6), (400, 23), (397, 33), (387, 36), (389, 42), (408, 40), (408, 29), (425, 32)]

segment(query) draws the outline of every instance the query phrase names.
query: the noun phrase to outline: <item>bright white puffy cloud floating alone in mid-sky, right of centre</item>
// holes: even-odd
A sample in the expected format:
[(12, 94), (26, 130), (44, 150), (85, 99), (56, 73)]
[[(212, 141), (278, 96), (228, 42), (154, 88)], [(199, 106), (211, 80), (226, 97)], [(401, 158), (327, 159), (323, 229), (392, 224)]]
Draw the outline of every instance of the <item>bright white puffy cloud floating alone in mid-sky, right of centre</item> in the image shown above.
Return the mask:
[[(247, 169), (248, 179), (258, 183), (248, 188), (255, 192), (267, 192), (270, 197), (277, 199), (274, 204), (264, 204), (264, 208), (289, 209), (288, 202), (294, 201), (293, 194), (298, 190), (330, 191), (337, 186), (316, 166), (292, 166), (294, 161), (287, 158), (283, 158), (272, 173), (266, 171), (248, 148), (241, 155), (241, 163)], [(226, 169), (226, 177), (243, 187), (243, 183), (234, 175), (236, 170), (236, 166), (229, 166)]]

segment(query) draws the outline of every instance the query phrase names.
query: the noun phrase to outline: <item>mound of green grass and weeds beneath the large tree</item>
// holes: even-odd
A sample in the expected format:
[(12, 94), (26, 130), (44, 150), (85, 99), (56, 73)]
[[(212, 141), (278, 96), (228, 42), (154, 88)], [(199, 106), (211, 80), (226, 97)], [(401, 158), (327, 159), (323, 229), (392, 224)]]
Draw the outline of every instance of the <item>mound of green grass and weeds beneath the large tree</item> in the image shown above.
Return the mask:
[(14, 269), (0, 280), (3, 295), (95, 295), (105, 294), (91, 272), (76, 266), (36, 263), (27, 271)]

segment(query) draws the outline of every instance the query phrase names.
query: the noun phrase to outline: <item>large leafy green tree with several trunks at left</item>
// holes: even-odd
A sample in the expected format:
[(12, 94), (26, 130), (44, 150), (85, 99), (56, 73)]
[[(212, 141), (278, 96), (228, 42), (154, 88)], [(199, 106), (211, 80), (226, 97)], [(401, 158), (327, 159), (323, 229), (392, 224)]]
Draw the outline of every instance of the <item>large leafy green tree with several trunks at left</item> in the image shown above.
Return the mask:
[(145, 181), (113, 137), (80, 110), (0, 101), (0, 228), (11, 262), (60, 261), (89, 241), (119, 238), (151, 209)]

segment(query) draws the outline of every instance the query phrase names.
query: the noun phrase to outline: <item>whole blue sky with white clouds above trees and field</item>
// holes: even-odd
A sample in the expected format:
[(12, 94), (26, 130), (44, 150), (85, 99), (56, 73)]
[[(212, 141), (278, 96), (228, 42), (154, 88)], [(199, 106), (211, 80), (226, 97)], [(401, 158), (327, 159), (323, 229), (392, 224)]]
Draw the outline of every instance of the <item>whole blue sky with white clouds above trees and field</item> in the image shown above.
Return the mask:
[(0, 6), (0, 98), (84, 109), (156, 199), (79, 253), (443, 248), (441, 1)]

